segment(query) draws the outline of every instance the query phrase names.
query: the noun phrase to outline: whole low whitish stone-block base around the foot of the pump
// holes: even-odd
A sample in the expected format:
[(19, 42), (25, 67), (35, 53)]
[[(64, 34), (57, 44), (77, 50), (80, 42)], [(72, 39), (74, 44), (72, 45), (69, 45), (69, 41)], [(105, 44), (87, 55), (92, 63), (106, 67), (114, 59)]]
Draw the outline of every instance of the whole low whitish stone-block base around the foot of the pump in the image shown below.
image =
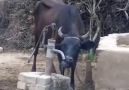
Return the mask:
[(41, 72), (23, 72), (18, 80), (17, 90), (71, 90), (70, 78), (60, 74), (47, 76)]

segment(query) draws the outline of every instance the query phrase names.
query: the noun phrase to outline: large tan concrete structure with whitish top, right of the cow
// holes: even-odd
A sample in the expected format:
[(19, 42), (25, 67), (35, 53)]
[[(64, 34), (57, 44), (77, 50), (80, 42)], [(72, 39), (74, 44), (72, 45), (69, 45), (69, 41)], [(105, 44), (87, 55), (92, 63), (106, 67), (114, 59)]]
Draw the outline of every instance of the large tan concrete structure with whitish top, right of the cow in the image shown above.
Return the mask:
[(129, 33), (102, 37), (93, 69), (96, 90), (129, 90)]

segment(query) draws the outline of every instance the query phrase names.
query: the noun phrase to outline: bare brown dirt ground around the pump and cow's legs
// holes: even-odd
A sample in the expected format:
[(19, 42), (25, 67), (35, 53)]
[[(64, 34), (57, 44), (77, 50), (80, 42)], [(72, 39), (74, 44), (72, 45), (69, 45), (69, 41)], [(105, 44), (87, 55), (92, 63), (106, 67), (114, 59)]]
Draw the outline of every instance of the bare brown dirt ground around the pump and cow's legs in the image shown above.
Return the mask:
[[(30, 53), (25, 52), (4, 52), (0, 53), (0, 90), (16, 90), (17, 78), (20, 72), (26, 72), (31, 70), (32, 62), (27, 63)], [(54, 60), (56, 70), (59, 73), (58, 61)], [(43, 54), (38, 55), (37, 59), (37, 71), (45, 70), (45, 56)], [(77, 70), (81, 81), (84, 81), (85, 77), (85, 63), (79, 61), (77, 64)], [(75, 74), (75, 82), (77, 90), (82, 89), (83, 86), (79, 82)], [(91, 90), (91, 89), (90, 89)]]

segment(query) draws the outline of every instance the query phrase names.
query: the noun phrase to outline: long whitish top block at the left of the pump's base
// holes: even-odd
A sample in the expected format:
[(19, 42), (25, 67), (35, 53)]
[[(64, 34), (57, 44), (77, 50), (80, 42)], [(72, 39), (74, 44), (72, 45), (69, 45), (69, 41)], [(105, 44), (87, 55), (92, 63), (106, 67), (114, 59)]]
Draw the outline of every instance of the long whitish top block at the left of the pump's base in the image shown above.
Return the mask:
[(41, 76), (42, 72), (23, 72), (18, 76), (19, 81), (36, 84), (37, 77)]

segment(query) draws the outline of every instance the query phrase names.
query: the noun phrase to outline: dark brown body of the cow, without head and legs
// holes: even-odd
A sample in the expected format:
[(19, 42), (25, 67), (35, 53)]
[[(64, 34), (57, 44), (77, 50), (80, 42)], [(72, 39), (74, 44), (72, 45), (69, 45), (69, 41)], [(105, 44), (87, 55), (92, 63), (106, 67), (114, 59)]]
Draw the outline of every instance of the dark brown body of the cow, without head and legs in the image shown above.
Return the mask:
[[(51, 23), (56, 23), (57, 28), (62, 26), (62, 32), (64, 34), (73, 33), (79, 35), (80, 32), (84, 31), (80, 15), (72, 5), (57, 4), (49, 7), (44, 3), (40, 3), (35, 12), (35, 35), (39, 35), (42, 29)], [(46, 39), (51, 38), (51, 36), (52, 30), (49, 29)], [(57, 43), (60, 43), (61, 38), (58, 35), (56, 39)]]

